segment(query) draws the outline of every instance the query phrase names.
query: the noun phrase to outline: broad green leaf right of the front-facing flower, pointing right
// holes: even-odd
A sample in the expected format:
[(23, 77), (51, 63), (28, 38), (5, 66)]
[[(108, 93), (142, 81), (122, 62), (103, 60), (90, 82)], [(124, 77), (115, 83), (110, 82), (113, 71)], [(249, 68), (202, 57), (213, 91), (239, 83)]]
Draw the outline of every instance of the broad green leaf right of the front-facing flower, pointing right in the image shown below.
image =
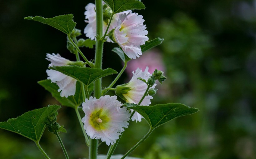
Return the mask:
[(156, 128), (177, 117), (199, 111), (197, 108), (190, 108), (179, 103), (157, 104), (155, 106), (135, 106), (135, 104), (125, 103), (123, 106), (140, 113), (152, 128)]

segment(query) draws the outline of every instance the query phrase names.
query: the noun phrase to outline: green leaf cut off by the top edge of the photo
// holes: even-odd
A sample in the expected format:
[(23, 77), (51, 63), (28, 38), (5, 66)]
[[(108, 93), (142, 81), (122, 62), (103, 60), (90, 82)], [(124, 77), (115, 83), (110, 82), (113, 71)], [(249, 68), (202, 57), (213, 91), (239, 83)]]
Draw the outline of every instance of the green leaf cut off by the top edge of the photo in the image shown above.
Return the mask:
[(138, 0), (103, 0), (114, 13), (122, 11), (145, 9), (145, 5)]

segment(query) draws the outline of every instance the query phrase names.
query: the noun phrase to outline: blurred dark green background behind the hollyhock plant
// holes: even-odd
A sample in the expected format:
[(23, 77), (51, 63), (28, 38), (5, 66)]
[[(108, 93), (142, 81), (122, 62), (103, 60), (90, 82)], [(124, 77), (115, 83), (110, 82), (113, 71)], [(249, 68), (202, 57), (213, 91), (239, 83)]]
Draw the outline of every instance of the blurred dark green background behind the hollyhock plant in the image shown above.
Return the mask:
[[(62, 32), (26, 16), (74, 14), (83, 31), (84, 7), (94, 1), (0, 0), (0, 121), (35, 108), (58, 104), (37, 81), (47, 78), (46, 53), (75, 60)], [(160, 126), (131, 153), (145, 159), (256, 158), (256, 1), (254, 0), (142, 0), (149, 39), (164, 38), (156, 49), (130, 61), (117, 84), (129, 81), (136, 67), (160, 67), (167, 80), (158, 84), (152, 104), (180, 102), (200, 111)], [(85, 35), (81, 35), (85, 38)], [(122, 62), (105, 43), (103, 68), (121, 70)], [(88, 59), (94, 50), (83, 48)], [(150, 55), (150, 56), (147, 56)], [(155, 58), (150, 58), (155, 57)], [(135, 62), (137, 61), (137, 62)], [(138, 62), (139, 61), (139, 62)], [(129, 65), (128, 63), (128, 65)], [(155, 69), (155, 68), (153, 68)], [(103, 79), (103, 86), (115, 76)], [(110, 95), (114, 95), (109, 93)], [(83, 115), (81, 113), (81, 115)], [(88, 155), (75, 111), (59, 110), (58, 122), (70, 158)], [(116, 154), (124, 154), (148, 131), (143, 120), (132, 122)], [(57, 138), (45, 131), (41, 145), (51, 158), (64, 158)], [(105, 154), (102, 143), (99, 153)], [(35, 144), (0, 129), (0, 158), (44, 158)]]

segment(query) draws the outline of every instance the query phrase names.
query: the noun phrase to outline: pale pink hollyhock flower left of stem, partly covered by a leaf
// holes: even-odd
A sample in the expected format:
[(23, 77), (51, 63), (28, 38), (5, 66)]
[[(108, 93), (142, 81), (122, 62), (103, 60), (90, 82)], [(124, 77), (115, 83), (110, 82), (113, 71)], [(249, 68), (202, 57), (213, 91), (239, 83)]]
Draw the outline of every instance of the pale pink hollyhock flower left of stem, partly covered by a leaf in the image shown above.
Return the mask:
[[(72, 61), (69, 61), (60, 56), (60, 54), (49, 54), (46, 55), (46, 60), (51, 61), (49, 67), (51, 66), (67, 66)], [(56, 83), (60, 89), (58, 92), (61, 97), (68, 97), (75, 95), (76, 93), (76, 79), (64, 75), (63, 73), (56, 70), (46, 70), (47, 75), (49, 76), (47, 79), (51, 80), (53, 83)]]

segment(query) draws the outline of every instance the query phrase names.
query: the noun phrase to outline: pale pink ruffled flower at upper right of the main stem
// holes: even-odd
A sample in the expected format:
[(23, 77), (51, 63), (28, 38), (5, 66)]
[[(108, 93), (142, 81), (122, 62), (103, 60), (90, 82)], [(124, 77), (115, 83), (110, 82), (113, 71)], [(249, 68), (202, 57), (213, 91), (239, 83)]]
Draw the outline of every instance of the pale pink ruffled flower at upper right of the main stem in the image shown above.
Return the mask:
[(136, 59), (142, 55), (140, 45), (148, 41), (148, 34), (143, 16), (137, 13), (122, 13), (119, 16), (113, 39), (123, 49), (129, 58)]

